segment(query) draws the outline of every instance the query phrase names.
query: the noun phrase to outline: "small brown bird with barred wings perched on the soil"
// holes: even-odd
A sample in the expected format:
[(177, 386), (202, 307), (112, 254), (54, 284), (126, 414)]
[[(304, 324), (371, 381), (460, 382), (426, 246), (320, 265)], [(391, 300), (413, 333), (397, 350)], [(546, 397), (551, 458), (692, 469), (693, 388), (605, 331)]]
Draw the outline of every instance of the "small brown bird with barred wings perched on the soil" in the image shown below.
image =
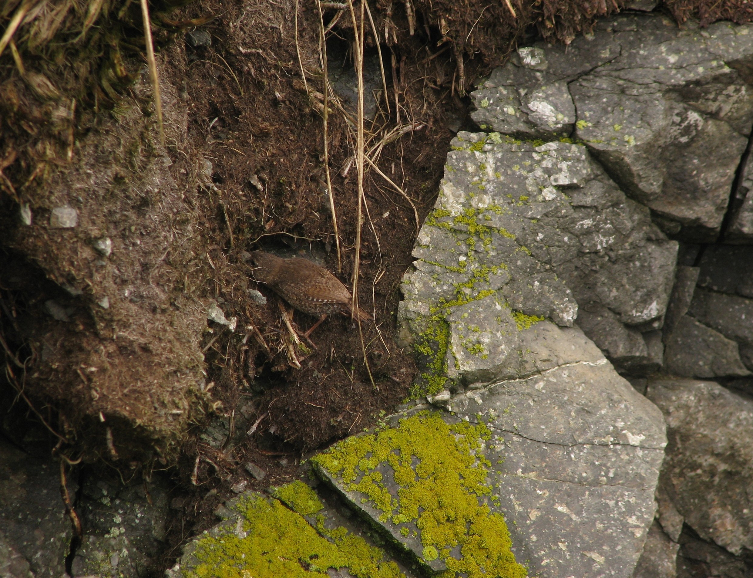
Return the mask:
[[(254, 278), (267, 283), (278, 295), (294, 308), (308, 315), (319, 317), (304, 337), (319, 327), (319, 323), (331, 313), (351, 314), (351, 295), (347, 287), (333, 274), (313, 261), (301, 258), (284, 259), (264, 251), (251, 254), (256, 266)], [(360, 308), (355, 311), (358, 320), (370, 320), (368, 313)]]

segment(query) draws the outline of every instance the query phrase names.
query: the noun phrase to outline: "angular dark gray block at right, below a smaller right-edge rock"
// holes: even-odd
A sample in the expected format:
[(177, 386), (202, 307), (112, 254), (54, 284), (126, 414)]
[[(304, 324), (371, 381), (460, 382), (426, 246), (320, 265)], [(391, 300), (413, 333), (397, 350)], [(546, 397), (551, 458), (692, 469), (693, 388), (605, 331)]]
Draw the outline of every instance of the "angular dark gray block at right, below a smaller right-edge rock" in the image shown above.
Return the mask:
[(684, 315), (666, 340), (666, 370), (684, 378), (750, 375), (735, 341)]

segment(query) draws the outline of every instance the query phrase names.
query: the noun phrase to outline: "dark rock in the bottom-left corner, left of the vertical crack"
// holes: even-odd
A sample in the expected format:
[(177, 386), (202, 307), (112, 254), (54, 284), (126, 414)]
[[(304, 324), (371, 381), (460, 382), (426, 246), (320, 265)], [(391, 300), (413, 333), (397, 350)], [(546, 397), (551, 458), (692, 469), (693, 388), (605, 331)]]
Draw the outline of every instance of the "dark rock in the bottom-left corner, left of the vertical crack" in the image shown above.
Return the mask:
[[(59, 488), (58, 463), (0, 439), (0, 576), (65, 575), (73, 531)], [(75, 482), (68, 489), (75, 494)]]

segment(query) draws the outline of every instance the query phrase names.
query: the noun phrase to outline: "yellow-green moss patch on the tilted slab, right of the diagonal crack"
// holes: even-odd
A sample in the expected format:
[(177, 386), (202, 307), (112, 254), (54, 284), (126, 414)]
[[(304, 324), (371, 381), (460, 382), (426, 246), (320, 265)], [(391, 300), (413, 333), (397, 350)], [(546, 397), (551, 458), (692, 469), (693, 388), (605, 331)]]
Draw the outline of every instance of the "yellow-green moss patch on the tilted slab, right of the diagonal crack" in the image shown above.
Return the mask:
[(522, 578), (526, 570), (515, 562), (505, 520), (486, 504), (492, 489), (482, 452), (490, 436), (484, 424), (447, 424), (438, 413), (420, 412), (397, 427), (345, 439), (312, 462), (380, 512), (378, 521), (393, 535), (416, 528), (420, 546), (413, 553), (425, 564), (443, 561), (442, 576)]

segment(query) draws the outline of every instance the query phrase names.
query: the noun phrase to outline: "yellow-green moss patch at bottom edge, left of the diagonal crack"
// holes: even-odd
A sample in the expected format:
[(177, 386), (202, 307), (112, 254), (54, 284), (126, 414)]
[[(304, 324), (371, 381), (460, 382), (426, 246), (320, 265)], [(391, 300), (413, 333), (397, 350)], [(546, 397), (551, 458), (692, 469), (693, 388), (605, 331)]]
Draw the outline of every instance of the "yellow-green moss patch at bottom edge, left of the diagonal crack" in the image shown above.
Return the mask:
[[(319, 502), (302, 482), (280, 491), (303, 512), (311, 511), (315, 499)], [(395, 562), (386, 561), (384, 552), (363, 538), (345, 528), (315, 530), (302, 512), (279, 500), (246, 495), (233, 509), (241, 514), (237, 526), (230, 523), (226, 531), (197, 540), (193, 551), (197, 564), (184, 567), (186, 578), (306, 578), (329, 576), (328, 569), (343, 567), (358, 578), (404, 578)]]

